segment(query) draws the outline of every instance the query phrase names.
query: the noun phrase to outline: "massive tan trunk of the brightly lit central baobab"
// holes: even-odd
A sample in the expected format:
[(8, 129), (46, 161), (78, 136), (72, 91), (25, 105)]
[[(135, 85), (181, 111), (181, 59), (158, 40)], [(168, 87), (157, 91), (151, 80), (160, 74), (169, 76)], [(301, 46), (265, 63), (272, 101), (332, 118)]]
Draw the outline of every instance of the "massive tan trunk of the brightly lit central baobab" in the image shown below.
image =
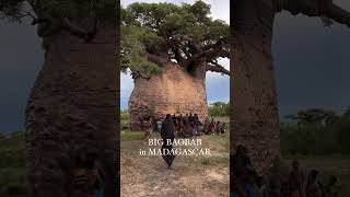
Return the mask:
[(208, 116), (206, 94), (206, 61), (195, 72), (167, 62), (164, 72), (150, 79), (135, 79), (135, 89), (129, 100), (131, 128), (140, 129), (140, 119), (165, 114), (198, 114)]

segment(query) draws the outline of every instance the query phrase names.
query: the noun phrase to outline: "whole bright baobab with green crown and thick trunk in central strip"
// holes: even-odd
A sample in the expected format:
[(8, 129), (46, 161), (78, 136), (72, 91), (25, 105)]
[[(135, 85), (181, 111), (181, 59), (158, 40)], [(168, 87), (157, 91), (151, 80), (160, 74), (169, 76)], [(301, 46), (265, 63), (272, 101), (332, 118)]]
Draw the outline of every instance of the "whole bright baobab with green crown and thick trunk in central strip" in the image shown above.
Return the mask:
[(230, 74), (229, 25), (212, 20), (210, 5), (132, 3), (121, 11), (121, 67), (131, 71), (132, 128), (144, 116), (197, 113), (208, 116), (207, 71)]

